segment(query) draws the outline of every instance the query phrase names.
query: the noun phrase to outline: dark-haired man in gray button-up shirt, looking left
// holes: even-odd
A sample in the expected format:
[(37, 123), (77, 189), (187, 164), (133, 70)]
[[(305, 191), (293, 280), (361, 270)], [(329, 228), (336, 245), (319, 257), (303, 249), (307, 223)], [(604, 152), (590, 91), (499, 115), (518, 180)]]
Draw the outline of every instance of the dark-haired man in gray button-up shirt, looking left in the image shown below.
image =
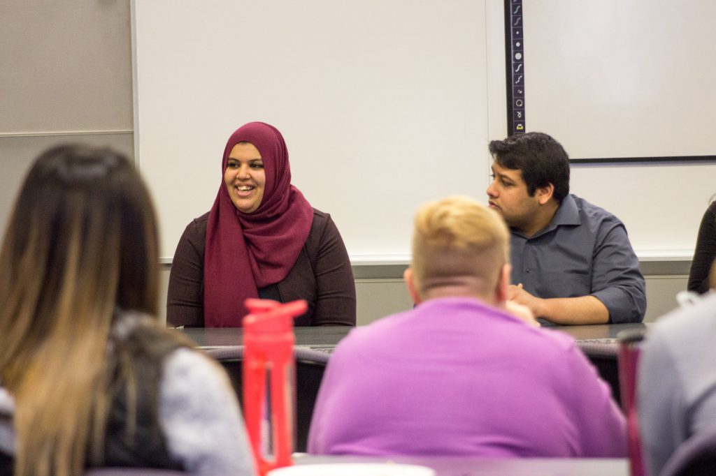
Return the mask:
[(510, 299), (554, 324), (641, 322), (644, 277), (624, 224), (569, 194), (569, 157), (528, 132), (490, 142), (490, 207), (511, 232)]

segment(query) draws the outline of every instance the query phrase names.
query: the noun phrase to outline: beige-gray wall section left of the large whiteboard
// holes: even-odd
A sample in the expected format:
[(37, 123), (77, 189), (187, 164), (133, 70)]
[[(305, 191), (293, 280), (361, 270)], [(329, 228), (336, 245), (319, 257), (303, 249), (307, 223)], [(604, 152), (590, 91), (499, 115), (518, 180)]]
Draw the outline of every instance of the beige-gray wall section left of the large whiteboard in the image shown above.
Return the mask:
[(0, 234), (27, 169), (58, 142), (133, 156), (127, 0), (0, 2)]

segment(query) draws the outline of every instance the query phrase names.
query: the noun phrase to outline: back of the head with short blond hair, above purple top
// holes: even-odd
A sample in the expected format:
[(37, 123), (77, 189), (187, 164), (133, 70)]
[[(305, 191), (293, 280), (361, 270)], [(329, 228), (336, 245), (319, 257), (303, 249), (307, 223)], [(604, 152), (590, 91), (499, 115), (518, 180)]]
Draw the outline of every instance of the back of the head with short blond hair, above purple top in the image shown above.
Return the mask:
[(468, 197), (448, 197), (418, 209), (412, 238), (417, 292), (476, 277), (485, 292), (495, 289), (509, 262), (510, 233), (502, 217)]

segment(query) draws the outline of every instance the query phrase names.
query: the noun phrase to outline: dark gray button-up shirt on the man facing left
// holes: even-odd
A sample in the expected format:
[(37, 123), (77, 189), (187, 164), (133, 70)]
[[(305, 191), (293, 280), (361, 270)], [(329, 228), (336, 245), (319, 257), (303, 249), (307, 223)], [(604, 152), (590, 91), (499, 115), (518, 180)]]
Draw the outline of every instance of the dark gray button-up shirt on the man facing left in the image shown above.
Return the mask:
[(613, 214), (570, 194), (533, 237), (510, 231), (513, 284), (543, 298), (591, 295), (609, 309), (609, 322), (642, 322), (644, 277)]

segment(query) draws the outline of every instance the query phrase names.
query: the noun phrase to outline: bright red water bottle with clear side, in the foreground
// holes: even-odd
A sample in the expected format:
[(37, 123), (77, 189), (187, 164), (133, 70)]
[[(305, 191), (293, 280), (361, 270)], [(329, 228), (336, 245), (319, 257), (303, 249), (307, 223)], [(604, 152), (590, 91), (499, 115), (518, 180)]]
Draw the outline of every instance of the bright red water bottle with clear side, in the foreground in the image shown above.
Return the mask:
[(306, 301), (246, 299), (243, 318), (243, 415), (261, 476), (291, 465), (294, 447), (294, 317)]

